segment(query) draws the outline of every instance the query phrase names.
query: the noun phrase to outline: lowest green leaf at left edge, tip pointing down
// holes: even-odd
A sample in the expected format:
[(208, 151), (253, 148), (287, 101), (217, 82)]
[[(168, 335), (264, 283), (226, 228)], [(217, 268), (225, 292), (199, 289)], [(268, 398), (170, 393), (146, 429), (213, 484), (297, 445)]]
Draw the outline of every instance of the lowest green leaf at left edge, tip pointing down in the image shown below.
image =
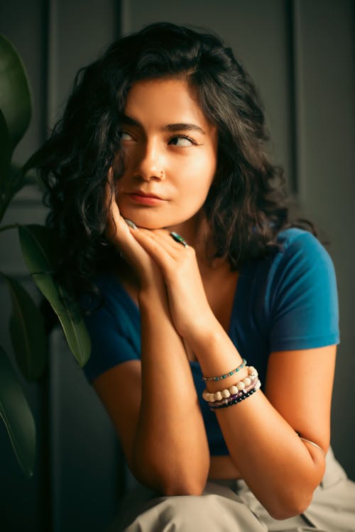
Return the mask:
[(35, 463), (35, 421), (21, 384), (0, 345), (0, 416), (3, 419), (18, 464), (32, 477)]

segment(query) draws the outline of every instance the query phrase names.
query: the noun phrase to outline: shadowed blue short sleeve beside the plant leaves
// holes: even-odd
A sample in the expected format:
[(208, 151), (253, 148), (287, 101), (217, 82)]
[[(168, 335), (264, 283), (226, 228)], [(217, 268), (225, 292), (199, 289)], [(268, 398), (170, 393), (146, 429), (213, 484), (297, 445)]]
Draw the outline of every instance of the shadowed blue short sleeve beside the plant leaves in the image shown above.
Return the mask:
[(100, 287), (104, 304), (85, 317), (91, 339), (91, 354), (83, 370), (92, 382), (96, 377), (122, 362), (140, 358), (138, 309), (120, 287)]

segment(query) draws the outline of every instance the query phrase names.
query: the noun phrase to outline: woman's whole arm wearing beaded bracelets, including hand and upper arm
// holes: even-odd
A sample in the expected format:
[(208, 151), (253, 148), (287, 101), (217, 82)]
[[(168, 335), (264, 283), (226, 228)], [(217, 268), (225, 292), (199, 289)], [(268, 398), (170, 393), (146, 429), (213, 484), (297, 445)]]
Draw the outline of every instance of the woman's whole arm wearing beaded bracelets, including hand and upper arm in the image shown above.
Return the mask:
[[(195, 352), (202, 373), (222, 375), (239, 365), (239, 353), (205, 300), (194, 250), (169, 246), (160, 231), (138, 233), (163, 271), (175, 327)], [(236, 468), (277, 519), (307, 508), (322, 480), (322, 451), (304, 443), (296, 431), (327, 449), (334, 358), (335, 346), (273, 353), (267, 395), (258, 390), (216, 413)], [(238, 375), (245, 377), (242, 371)], [(235, 380), (224, 379), (223, 387)], [(208, 384), (210, 392), (221, 389), (221, 382)]]

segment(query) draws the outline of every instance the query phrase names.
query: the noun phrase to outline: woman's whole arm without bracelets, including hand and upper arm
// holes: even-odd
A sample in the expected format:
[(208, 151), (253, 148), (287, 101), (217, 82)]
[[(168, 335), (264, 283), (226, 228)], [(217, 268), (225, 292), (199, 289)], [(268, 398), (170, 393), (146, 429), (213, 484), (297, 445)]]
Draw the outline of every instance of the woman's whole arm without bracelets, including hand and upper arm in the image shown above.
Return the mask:
[(209, 449), (185, 346), (173, 325), (159, 268), (131, 237), (115, 201), (111, 209), (109, 238), (136, 270), (141, 286), (141, 363), (108, 370), (94, 387), (133, 475), (163, 494), (200, 494)]

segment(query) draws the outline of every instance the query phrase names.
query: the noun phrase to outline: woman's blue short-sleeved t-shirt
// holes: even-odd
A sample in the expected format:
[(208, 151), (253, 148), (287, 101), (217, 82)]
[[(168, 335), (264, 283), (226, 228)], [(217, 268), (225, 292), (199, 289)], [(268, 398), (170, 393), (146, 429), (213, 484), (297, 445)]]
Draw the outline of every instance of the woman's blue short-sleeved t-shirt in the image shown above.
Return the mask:
[[(337, 282), (329, 254), (307, 231), (278, 235), (280, 250), (251, 260), (239, 270), (229, 336), (248, 365), (265, 381), (273, 351), (319, 348), (339, 343)], [(96, 282), (104, 306), (89, 316), (92, 353), (84, 372), (92, 381), (110, 367), (140, 358), (139, 309), (116, 277)], [(216, 416), (202, 399), (198, 362), (190, 362), (211, 455), (229, 454)]]

